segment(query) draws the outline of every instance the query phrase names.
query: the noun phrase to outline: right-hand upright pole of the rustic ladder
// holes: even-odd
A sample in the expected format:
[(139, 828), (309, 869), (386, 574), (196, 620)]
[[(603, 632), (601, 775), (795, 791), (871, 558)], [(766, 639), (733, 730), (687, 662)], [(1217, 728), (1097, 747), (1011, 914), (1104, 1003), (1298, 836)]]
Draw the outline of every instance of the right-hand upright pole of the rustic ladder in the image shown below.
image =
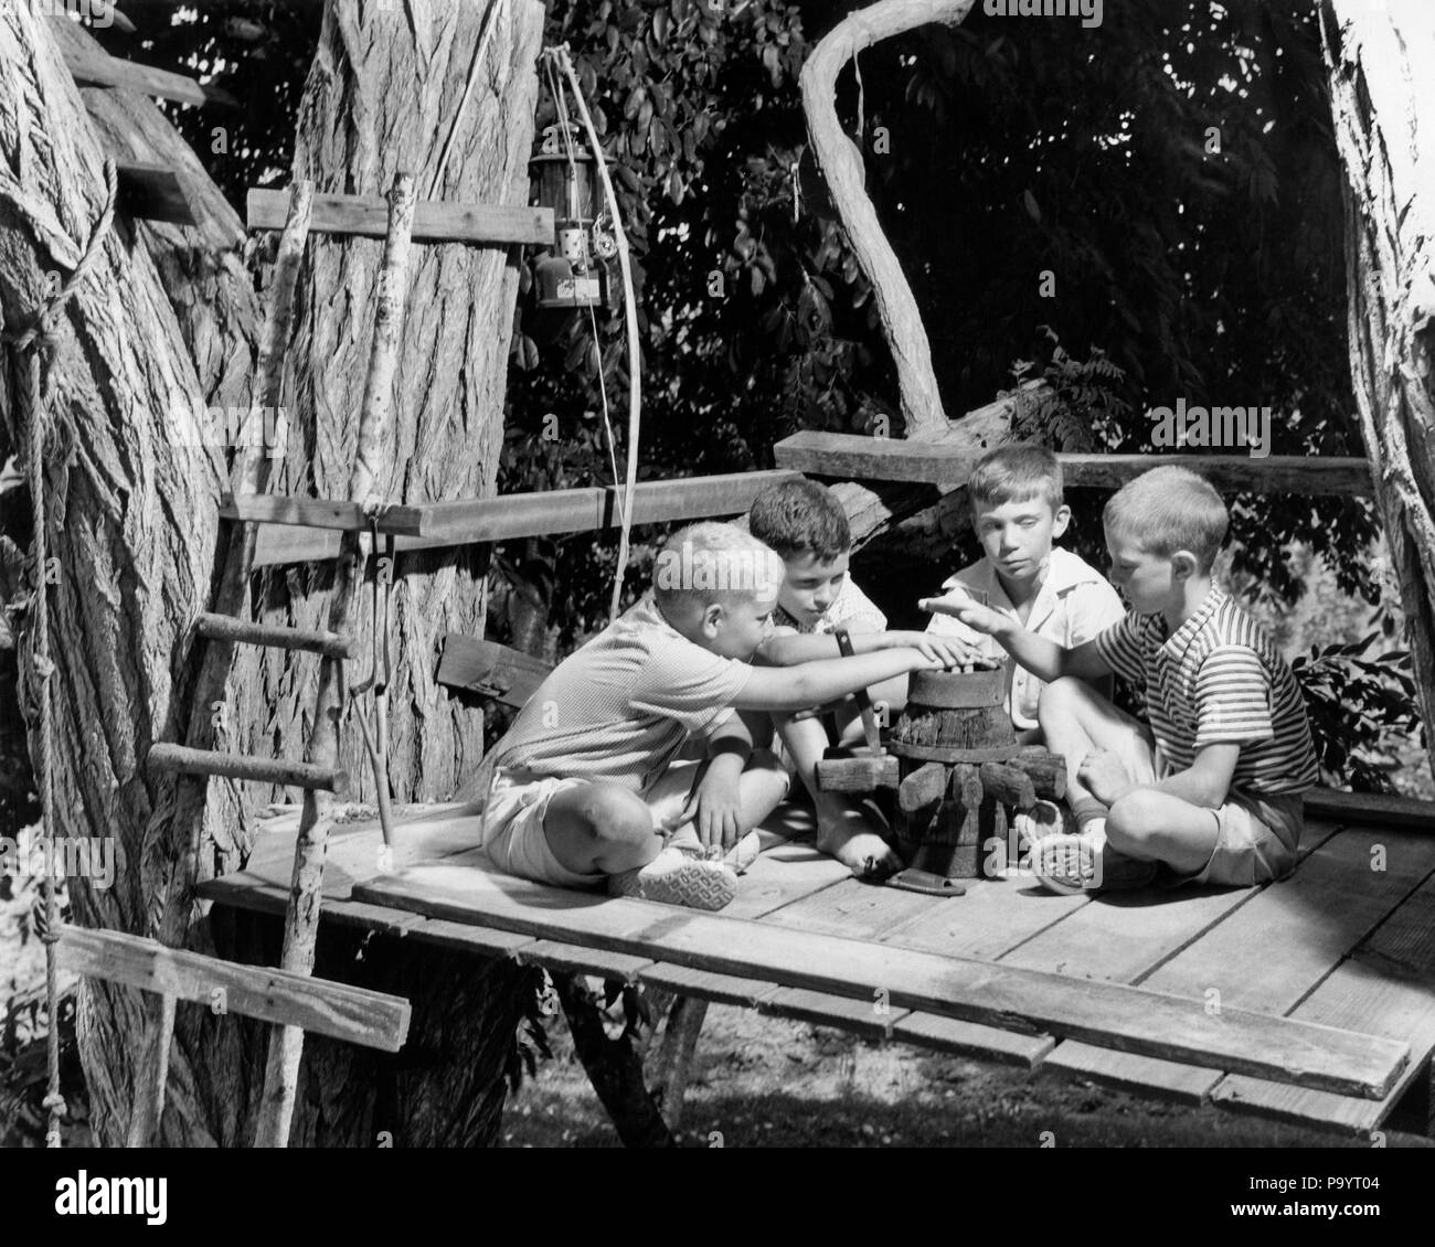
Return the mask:
[[(349, 476), (349, 497), (373, 504), (383, 485), (379, 462), (390, 423), (393, 369), (403, 326), (403, 300), (408, 290), (409, 241), (413, 230), (413, 177), (399, 174), (389, 194), (389, 235), (385, 240), (383, 268), (379, 273), (379, 306), (375, 316), (373, 354), (364, 380), (363, 409), (359, 416), (359, 445)], [(329, 631), (353, 636), (353, 610), (359, 596), (359, 534), (343, 535), (334, 583), (329, 598)], [(339, 662), (326, 659), (319, 672), (319, 696), (314, 726), (309, 738), (309, 761), (336, 768), (339, 762), (339, 716), (342, 670)], [(298, 841), (294, 845), (294, 883), (284, 913), (284, 951), (280, 966), (309, 974), (314, 969), (319, 940), (319, 907), (324, 883), (324, 850), (329, 838), (329, 798), (313, 789), (304, 794)], [(255, 1134), (257, 1147), (281, 1148), (288, 1144), (294, 1118), (294, 1093), (298, 1086), (298, 1059), (304, 1032), (297, 1026), (278, 1027), (270, 1037), (268, 1063), (264, 1070), (264, 1098)]]

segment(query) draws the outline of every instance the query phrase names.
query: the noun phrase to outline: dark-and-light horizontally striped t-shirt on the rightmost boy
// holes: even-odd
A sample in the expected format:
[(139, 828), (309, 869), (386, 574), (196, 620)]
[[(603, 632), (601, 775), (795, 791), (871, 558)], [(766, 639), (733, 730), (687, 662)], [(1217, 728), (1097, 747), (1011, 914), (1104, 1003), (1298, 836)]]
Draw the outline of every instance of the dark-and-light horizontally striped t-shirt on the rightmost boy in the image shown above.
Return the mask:
[(1093, 644), (1118, 676), (1145, 684), (1151, 732), (1177, 771), (1207, 745), (1238, 743), (1231, 786), (1290, 795), (1320, 781), (1300, 686), (1270, 639), (1224, 590), (1174, 634), (1162, 614), (1128, 614)]

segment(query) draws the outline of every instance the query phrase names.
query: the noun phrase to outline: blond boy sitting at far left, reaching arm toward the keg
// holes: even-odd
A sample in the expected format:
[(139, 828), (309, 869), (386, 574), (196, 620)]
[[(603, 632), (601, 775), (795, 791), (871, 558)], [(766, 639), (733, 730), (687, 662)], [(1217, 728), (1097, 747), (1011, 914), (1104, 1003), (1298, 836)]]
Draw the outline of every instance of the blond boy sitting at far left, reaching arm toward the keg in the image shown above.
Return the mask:
[[(730, 524), (667, 541), (653, 591), (560, 663), (485, 758), (474, 786), (488, 795), (482, 842), (501, 870), (706, 910), (733, 898), (735, 868), (758, 848), (751, 828), (789, 782), (752, 748), (739, 712), (765, 716), (944, 664), (946, 650), (926, 646), (751, 666), (782, 577), (782, 560)], [(706, 758), (684, 765), (689, 736)]]

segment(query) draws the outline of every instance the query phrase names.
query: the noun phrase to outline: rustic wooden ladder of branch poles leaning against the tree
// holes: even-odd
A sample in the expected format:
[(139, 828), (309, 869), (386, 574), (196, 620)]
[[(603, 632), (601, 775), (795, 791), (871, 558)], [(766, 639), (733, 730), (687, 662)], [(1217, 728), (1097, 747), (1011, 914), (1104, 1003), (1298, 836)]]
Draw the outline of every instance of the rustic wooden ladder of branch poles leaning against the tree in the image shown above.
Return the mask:
[[(326, 197), (330, 205), (337, 198), (343, 197)], [(254, 386), (255, 406), (260, 409), (273, 410), (278, 406), (294, 287), (304, 243), (313, 227), (314, 199), (313, 184), (298, 182), (286, 207)], [(396, 178), (387, 205), (375, 340), (349, 479), (352, 501), (330, 508), (331, 514), (337, 511), (339, 518), (333, 522), (343, 528), (343, 535), (329, 590), (327, 627), (303, 630), (248, 620), (248, 583), (254, 570), (257, 522), (221, 508), (222, 568), (212, 610), (202, 613), (195, 621), (195, 639), (202, 646), (194, 690), (195, 713), (191, 715), (182, 745), (158, 742), (151, 746), (146, 761), (151, 772), (179, 776), (175, 827), (181, 829), (185, 844), (166, 888), (159, 940), (79, 928), (66, 930), (62, 936), (62, 951), (79, 973), (158, 994), (148, 1010), (139, 1050), (133, 1115), (126, 1135), (129, 1147), (148, 1145), (159, 1126), (175, 1006), (181, 999), (208, 1003), (211, 1007), (222, 1002), (222, 1012), (277, 1026), (270, 1036), (255, 1135), (255, 1144), (261, 1147), (284, 1147), (288, 1141), (306, 1030), (389, 1052), (396, 1052), (408, 1035), (410, 1012), (409, 1003), (402, 997), (314, 979), (310, 973), (319, 934), (324, 851), (333, 821), (331, 801), (346, 795), (349, 789), (349, 778), (339, 765), (339, 723), (344, 709), (343, 663), (354, 651), (353, 616), (362, 585), (362, 575), (357, 574), (359, 534), (366, 528), (375, 532), (412, 531), (412, 519), (406, 518), (408, 508), (390, 508), (396, 512), (392, 515), (380, 508), (376, 497), (379, 478), (375, 471), (390, 420), (389, 396), (408, 288), (408, 258), (416, 207), (410, 175), (400, 174)], [(324, 232), (372, 232), (372, 221), (363, 218), (356, 222), (330, 212), (320, 228)], [(280, 499), (267, 494), (270, 462), (264, 448), (255, 442), (255, 438), (248, 438), (240, 448), (232, 498), (288, 502), (296, 515), (310, 517), (310, 511), (303, 507), (309, 499)], [(271, 517), (268, 522), (284, 522), (284, 518)], [(211, 715), (210, 710), (222, 706), (237, 644), (271, 646), (321, 656), (306, 761), (255, 758), (215, 748), (218, 715)], [(208, 784), (214, 776), (294, 785), (304, 791), (293, 885), (284, 917), (284, 946), (277, 970), (238, 966), (181, 951), (199, 877)]]

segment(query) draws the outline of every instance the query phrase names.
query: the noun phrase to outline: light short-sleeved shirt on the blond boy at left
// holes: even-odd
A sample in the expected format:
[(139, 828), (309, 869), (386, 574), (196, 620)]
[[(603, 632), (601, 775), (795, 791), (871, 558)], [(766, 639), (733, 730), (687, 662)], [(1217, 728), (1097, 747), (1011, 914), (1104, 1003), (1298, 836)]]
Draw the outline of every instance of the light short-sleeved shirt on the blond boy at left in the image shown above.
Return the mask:
[(752, 667), (693, 644), (651, 593), (564, 659), (482, 762), (540, 776), (608, 779), (646, 792), (689, 735), (732, 715)]

